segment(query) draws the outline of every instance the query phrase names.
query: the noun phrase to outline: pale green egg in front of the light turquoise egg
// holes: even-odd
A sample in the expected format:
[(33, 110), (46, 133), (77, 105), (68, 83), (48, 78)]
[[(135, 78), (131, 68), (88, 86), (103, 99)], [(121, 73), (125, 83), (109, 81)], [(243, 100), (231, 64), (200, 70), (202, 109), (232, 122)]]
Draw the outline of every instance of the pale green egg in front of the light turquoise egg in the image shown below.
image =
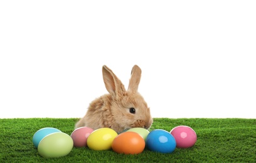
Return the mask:
[(49, 134), (38, 144), (38, 153), (42, 157), (62, 157), (73, 149), (73, 139), (64, 132)]

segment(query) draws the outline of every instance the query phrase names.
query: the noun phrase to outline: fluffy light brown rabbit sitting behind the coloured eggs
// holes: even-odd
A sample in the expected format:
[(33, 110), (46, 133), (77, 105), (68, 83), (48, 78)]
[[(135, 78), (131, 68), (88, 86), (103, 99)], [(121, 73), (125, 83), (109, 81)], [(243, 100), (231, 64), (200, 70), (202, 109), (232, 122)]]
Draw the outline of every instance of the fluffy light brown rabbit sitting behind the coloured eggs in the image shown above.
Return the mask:
[(86, 115), (76, 123), (75, 129), (84, 126), (94, 130), (108, 127), (118, 134), (134, 127), (149, 129), (153, 118), (144, 98), (137, 92), (141, 68), (133, 66), (127, 90), (105, 65), (102, 67), (102, 74), (109, 94), (102, 95), (90, 103)]

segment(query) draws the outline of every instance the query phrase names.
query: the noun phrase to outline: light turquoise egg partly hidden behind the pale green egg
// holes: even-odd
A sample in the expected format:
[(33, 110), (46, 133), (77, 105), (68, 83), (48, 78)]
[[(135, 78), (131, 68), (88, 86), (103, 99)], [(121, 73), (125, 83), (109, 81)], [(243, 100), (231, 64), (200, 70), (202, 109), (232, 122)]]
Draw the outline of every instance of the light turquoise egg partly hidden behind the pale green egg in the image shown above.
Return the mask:
[(52, 134), (54, 132), (61, 132), (59, 129), (55, 129), (54, 127), (45, 127), (43, 129), (38, 130), (33, 135), (33, 144), (35, 147), (38, 147), (39, 142), (47, 135)]

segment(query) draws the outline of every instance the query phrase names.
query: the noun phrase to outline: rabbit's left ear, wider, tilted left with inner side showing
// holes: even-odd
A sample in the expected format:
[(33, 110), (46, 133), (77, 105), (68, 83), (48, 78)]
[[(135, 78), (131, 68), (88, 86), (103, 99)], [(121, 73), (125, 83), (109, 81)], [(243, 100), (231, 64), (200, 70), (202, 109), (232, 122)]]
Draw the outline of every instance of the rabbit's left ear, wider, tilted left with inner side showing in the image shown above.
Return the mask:
[(125, 92), (125, 88), (122, 82), (106, 65), (102, 66), (102, 75), (105, 87), (112, 96), (121, 96)]

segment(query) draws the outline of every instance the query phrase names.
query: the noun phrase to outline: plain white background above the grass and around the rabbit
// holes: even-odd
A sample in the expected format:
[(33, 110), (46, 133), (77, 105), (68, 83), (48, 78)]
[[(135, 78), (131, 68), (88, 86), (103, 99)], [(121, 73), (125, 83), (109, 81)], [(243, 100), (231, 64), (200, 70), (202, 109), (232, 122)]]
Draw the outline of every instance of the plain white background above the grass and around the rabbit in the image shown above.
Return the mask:
[(83, 117), (107, 65), (153, 117), (256, 118), (255, 1), (1, 1), (0, 118)]

